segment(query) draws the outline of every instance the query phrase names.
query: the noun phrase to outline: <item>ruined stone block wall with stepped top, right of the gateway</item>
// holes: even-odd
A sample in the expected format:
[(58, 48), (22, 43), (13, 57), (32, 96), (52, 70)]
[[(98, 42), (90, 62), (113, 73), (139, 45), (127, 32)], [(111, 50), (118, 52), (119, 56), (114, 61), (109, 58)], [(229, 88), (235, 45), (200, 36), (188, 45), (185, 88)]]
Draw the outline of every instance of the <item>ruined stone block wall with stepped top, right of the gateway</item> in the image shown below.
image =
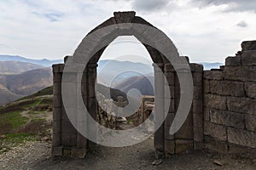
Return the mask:
[(205, 146), (256, 148), (256, 42), (242, 42), (219, 70), (204, 71)]

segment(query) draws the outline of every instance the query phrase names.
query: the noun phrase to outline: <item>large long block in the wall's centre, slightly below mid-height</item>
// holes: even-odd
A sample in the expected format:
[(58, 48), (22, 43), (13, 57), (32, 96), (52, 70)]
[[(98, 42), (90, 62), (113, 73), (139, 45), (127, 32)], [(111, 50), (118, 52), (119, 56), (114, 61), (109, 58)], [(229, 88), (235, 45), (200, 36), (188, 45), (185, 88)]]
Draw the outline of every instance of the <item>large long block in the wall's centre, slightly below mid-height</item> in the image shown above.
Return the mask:
[(237, 128), (244, 128), (244, 115), (231, 111), (211, 111), (211, 122)]

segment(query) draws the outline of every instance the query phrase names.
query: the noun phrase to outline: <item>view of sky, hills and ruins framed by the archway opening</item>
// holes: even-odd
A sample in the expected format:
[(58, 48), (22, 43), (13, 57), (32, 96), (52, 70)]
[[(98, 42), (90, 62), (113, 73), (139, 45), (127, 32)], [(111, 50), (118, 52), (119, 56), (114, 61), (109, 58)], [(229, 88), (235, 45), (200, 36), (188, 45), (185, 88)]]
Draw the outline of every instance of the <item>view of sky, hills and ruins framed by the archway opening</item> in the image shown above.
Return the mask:
[[(105, 48), (96, 76), (97, 121), (101, 125), (127, 130), (154, 114), (153, 63), (148, 49), (134, 36), (119, 36)], [(154, 125), (146, 126), (148, 133), (154, 132)], [(154, 136), (150, 140), (148, 147), (154, 151)]]

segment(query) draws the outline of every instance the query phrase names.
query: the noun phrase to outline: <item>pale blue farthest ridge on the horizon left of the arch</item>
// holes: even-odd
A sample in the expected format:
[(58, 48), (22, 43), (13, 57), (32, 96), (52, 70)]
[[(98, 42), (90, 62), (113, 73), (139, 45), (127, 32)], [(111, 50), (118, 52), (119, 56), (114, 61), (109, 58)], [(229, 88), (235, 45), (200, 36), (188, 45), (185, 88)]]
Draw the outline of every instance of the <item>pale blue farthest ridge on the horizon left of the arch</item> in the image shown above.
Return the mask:
[(20, 61), (26, 63), (32, 63), (35, 65), (43, 65), (44, 67), (49, 67), (53, 64), (63, 63), (63, 59), (27, 59), (19, 55), (0, 55), (0, 61)]

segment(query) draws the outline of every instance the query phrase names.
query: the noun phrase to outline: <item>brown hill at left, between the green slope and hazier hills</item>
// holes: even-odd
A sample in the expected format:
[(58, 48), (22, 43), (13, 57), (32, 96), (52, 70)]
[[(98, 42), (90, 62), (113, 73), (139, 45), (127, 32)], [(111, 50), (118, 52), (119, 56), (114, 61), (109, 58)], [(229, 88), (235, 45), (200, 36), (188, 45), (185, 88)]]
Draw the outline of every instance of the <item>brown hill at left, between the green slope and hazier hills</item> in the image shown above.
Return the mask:
[(0, 85), (0, 105), (5, 105), (22, 96), (34, 94), (52, 86), (51, 68), (25, 71), (14, 75), (0, 75)]

